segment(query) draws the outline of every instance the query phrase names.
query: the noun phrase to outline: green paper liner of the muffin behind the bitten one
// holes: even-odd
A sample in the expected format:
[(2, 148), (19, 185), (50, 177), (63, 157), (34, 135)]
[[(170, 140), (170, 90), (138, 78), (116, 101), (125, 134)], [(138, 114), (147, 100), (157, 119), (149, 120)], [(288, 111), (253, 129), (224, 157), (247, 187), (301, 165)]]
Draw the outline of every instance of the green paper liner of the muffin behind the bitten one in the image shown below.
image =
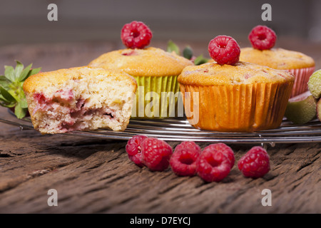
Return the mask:
[(131, 118), (158, 119), (183, 116), (183, 101), (177, 77), (133, 76), (138, 88)]

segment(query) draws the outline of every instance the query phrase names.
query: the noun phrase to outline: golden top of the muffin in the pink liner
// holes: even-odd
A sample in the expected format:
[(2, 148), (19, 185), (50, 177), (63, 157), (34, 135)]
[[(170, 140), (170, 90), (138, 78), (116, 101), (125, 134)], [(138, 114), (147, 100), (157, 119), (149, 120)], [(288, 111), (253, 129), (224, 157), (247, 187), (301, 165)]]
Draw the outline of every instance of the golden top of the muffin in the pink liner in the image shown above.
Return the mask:
[(262, 51), (255, 48), (241, 48), (240, 61), (257, 63), (280, 70), (315, 66), (315, 61), (310, 56), (282, 48), (272, 48)]

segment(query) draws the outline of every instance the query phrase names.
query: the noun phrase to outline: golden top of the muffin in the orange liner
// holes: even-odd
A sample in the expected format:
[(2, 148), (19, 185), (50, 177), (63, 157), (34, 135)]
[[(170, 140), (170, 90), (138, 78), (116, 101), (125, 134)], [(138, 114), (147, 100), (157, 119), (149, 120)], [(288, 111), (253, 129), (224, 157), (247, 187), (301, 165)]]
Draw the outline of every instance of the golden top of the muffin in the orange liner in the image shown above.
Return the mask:
[(204, 63), (184, 68), (178, 82), (190, 86), (216, 86), (294, 81), (289, 71), (275, 70), (255, 63), (238, 62), (234, 66)]

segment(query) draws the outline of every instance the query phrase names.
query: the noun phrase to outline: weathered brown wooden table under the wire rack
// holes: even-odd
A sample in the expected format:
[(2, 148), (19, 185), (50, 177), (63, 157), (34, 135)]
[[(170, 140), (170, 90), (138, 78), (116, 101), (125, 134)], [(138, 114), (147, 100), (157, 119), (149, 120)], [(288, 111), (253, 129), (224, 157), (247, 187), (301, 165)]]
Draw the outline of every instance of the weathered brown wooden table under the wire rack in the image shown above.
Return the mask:
[[(165, 47), (161, 42), (154, 45)], [(104, 42), (6, 46), (0, 48), (0, 62), (14, 65), (17, 59), (51, 71), (86, 65), (120, 47)], [(287, 41), (284, 47), (305, 51), (320, 68), (320, 45)], [(195, 48), (206, 50), (200, 44)], [(0, 108), (1, 118), (9, 115)], [(222, 182), (206, 183), (199, 177), (178, 177), (170, 169), (137, 167), (128, 160), (126, 141), (41, 135), (4, 123), (0, 129), (0, 213), (321, 212), (320, 143), (267, 147), (271, 170), (263, 178), (245, 178), (235, 165)], [(178, 142), (169, 144), (175, 147)], [(253, 145), (230, 146), (238, 161)], [(56, 207), (48, 204), (51, 189), (58, 193)], [(265, 189), (271, 191), (271, 206), (261, 202)]]

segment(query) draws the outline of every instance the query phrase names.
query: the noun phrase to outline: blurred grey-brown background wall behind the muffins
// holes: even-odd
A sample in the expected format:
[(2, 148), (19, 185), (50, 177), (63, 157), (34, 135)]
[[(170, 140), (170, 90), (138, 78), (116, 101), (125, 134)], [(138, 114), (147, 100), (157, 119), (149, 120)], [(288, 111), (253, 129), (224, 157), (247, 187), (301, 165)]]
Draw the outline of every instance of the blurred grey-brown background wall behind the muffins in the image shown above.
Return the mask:
[[(47, 6), (58, 6), (58, 21), (48, 21)], [(272, 21), (262, 21), (261, 6), (272, 6)], [(14, 43), (118, 41), (121, 27), (144, 21), (153, 40), (209, 41), (227, 34), (242, 41), (257, 24), (278, 36), (320, 41), (319, 0), (1, 0), (0, 46)], [(320, 35), (320, 36), (319, 36)]]

